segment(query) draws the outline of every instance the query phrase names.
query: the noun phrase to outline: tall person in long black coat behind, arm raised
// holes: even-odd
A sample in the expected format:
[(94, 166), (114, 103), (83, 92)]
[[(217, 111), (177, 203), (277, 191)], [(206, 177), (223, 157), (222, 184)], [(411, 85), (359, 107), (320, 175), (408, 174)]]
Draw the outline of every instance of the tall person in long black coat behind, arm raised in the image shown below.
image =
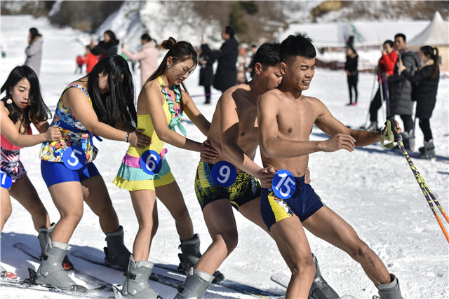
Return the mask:
[(234, 38), (234, 29), (230, 26), (223, 28), (222, 39), (225, 40), (225, 43), (222, 44), (220, 50), (210, 50), (205, 41), (201, 41), (201, 50), (214, 60), (218, 60), (213, 87), (225, 92), (237, 83), (236, 63), (239, 55), (239, 43)]

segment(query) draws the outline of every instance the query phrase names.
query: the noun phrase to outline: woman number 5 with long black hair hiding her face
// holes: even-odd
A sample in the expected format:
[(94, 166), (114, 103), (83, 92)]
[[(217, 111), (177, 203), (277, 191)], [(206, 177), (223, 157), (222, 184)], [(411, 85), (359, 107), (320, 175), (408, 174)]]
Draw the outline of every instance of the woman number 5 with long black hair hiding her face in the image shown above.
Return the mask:
[[(120, 55), (107, 55), (91, 73), (70, 83), (62, 92), (51, 125), (58, 125), (62, 138), (41, 146), (41, 173), (60, 213), (50, 245), (36, 272), (37, 284), (77, 288), (59, 266), (70, 237), (83, 216), (83, 202), (98, 215), (106, 234), (106, 258), (126, 268), (130, 252), (123, 244), (123, 228), (93, 160), (98, 148), (95, 137), (125, 141), (138, 148), (149, 137), (135, 130), (134, 85), (128, 63)], [(99, 138), (98, 138), (99, 139)]]

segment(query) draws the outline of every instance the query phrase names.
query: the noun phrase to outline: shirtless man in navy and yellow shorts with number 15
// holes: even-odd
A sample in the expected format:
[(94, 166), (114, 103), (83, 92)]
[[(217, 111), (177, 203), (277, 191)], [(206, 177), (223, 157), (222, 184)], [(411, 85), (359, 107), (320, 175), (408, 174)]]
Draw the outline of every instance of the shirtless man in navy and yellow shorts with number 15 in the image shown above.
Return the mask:
[[(260, 195), (264, 223), (292, 271), (286, 298), (307, 298), (314, 279), (315, 267), (304, 228), (360, 263), (379, 289), (381, 299), (402, 298), (398, 279), (388, 272), (376, 253), (358, 238), (348, 223), (321, 202), (310, 185), (304, 185), (309, 153), (340, 149), (351, 152), (355, 146), (380, 141), (380, 132), (350, 130), (319, 99), (302, 95), (314, 76), (315, 56), (307, 35), (288, 36), (281, 43), (283, 81), (278, 88), (264, 93), (257, 104), (263, 165), (288, 170), (296, 183), (295, 189), (293, 184), (290, 186), (295, 190), (290, 198), (282, 200), (274, 190), (266, 188), (262, 188)], [(331, 138), (309, 141), (314, 125)]]

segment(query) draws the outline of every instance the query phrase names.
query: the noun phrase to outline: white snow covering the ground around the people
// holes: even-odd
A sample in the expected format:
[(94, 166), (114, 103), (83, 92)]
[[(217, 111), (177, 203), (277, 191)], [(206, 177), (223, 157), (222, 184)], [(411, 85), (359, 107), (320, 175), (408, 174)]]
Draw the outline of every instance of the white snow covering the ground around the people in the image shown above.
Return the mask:
[[(43, 19), (30, 16), (2, 16), (1, 45), (6, 57), (1, 59), (0, 81), (3, 84), (13, 67), (25, 62), (25, 47), (29, 27), (37, 27), (43, 34), (43, 61), (41, 85), (46, 104), (54, 111), (60, 92), (74, 75), (75, 57), (83, 53), (83, 44), (77, 41), (80, 34), (72, 29), (58, 29)], [(396, 31), (401, 31), (397, 28)], [(326, 34), (323, 32), (322, 34)], [(393, 36), (391, 36), (393, 37)], [(375, 61), (378, 57), (375, 57)], [(375, 63), (374, 61), (374, 63)], [(191, 95), (203, 94), (198, 86), (196, 70), (187, 79)], [(140, 74), (136, 72), (136, 81)], [(358, 106), (345, 106), (348, 102), (346, 75), (343, 71), (316, 69), (311, 88), (305, 92), (321, 99), (331, 113), (347, 125), (366, 122), (370, 97), (373, 92), (373, 74), (360, 74)], [(215, 103), (220, 95), (213, 90), (213, 104), (203, 105), (203, 97), (194, 97), (199, 109), (210, 120)], [(438, 99), (431, 126), (434, 132), (438, 160), (413, 159), (417, 169), (434, 192), (441, 205), (449, 209), (449, 78), (444, 76), (438, 86)], [(379, 113), (379, 119), (384, 114)], [(187, 119), (187, 117), (185, 118)], [(401, 123), (401, 121), (400, 121)], [(188, 137), (202, 141), (201, 132), (184, 123)], [(311, 139), (325, 139), (319, 130), (314, 130)], [(417, 128), (417, 147), (422, 146), (422, 132)], [(125, 242), (132, 247), (138, 229), (128, 191), (117, 188), (112, 180), (119, 168), (127, 144), (104, 140), (96, 144), (100, 154), (95, 165), (107, 183), (114, 207), (125, 229)], [(41, 200), (48, 209), (51, 221), (58, 221), (59, 214), (41, 179), (39, 169), (40, 146), (22, 149), (22, 162), (34, 183)], [(187, 207), (194, 221), (195, 231), (201, 235), (201, 251), (210, 244), (208, 230), (194, 194), (194, 173), (199, 155), (168, 146), (168, 160), (177, 178)], [(260, 160), (259, 160), (260, 161)], [(387, 151), (380, 144), (359, 148), (353, 153), (314, 153), (309, 160), (312, 186), (328, 206), (353, 225), (356, 232), (380, 256), (390, 272), (401, 282), (404, 298), (449, 298), (449, 246), (438, 223), (431, 213), (421, 190), (415, 181), (406, 159), (402, 155)], [(288, 268), (276, 249), (276, 245), (260, 228), (236, 213), (239, 225), (239, 246), (225, 261), (220, 270), (229, 279), (245, 284), (279, 291), (281, 288), (269, 280), (275, 272), (288, 273)], [(443, 219), (443, 223), (445, 223)], [(445, 223), (449, 229), (448, 223)], [(308, 234), (312, 251), (316, 254), (325, 279), (340, 295), (351, 294), (356, 298), (371, 298), (376, 294), (373, 283), (361, 267), (346, 253), (330, 246), (321, 239)], [(27, 211), (13, 200), (13, 214), (1, 233), (1, 263), (6, 270), (18, 274), (21, 279), (28, 276), (27, 267), (38, 266), (23, 253), (14, 249), (15, 242), (24, 242), (39, 248), (36, 232)], [(153, 242), (150, 258), (177, 264), (179, 239), (173, 218), (159, 204), (159, 232)], [(72, 249), (83, 249), (98, 256), (105, 246), (105, 235), (100, 230), (98, 218), (85, 206), (84, 216), (70, 240)], [(123, 275), (115, 270), (92, 265), (72, 257), (76, 267), (114, 284), (123, 283)], [(175, 288), (150, 281), (152, 287), (163, 298), (173, 298)], [(60, 298), (60, 295), (1, 288), (1, 298)], [(213, 286), (205, 298), (251, 298), (226, 288)]]

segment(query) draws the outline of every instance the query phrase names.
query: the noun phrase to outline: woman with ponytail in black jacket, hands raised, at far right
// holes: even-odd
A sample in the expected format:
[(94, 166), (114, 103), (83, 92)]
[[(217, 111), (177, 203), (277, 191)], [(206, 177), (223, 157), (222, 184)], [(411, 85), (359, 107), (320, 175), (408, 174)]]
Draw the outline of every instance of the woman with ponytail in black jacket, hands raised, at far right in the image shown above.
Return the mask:
[(398, 61), (398, 74), (405, 77), (415, 87), (416, 117), (420, 118), (420, 128), (424, 134), (424, 146), (420, 148), (420, 158), (434, 158), (435, 147), (429, 119), (432, 116), (436, 103), (436, 90), (440, 80), (438, 48), (423, 46), (418, 53), (421, 68), (415, 74)]

